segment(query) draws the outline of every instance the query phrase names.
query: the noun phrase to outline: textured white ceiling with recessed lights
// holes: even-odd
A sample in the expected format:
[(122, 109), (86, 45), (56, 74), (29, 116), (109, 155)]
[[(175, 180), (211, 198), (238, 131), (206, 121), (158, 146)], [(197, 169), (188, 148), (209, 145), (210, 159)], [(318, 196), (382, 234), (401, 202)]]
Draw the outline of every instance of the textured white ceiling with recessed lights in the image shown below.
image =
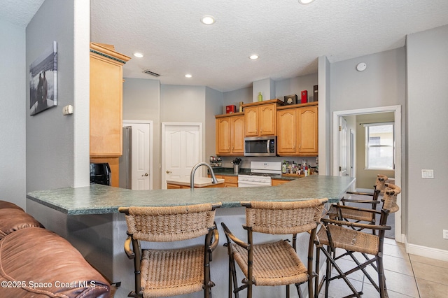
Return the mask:
[[(6, 0), (0, 17), (27, 24), (27, 6), (34, 14), (41, 3)], [(90, 3), (90, 40), (132, 57), (123, 68), (125, 77), (155, 79), (142, 72), (149, 69), (161, 75), (162, 84), (206, 85), (222, 92), (263, 78), (316, 73), (319, 56), (338, 62), (391, 50), (405, 45), (407, 34), (448, 24), (447, 0), (316, 0), (306, 6), (297, 0)], [(202, 24), (203, 15), (213, 15), (216, 23)], [(145, 56), (133, 57), (134, 52)], [(260, 59), (248, 59), (253, 53)]]

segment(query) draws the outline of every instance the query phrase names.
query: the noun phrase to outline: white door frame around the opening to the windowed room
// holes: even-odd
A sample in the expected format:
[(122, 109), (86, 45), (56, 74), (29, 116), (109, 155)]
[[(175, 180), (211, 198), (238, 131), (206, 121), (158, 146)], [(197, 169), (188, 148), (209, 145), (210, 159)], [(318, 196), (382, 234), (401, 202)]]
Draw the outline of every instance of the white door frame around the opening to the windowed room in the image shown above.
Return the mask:
[[(377, 108), (359, 108), (356, 110), (346, 110), (346, 111), (334, 111), (333, 112), (333, 176), (339, 175), (337, 171), (339, 166), (339, 117), (360, 115), (360, 114), (372, 114), (372, 113), (386, 113), (393, 112), (395, 121), (395, 184), (401, 187), (402, 185), (402, 168), (401, 168), (401, 156), (402, 156), (402, 127), (401, 127), (401, 106), (381, 106)], [(398, 194), (397, 205), (399, 209), (395, 212), (395, 241), (404, 243), (405, 234), (402, 234), (401, 227), (401, 194)]]

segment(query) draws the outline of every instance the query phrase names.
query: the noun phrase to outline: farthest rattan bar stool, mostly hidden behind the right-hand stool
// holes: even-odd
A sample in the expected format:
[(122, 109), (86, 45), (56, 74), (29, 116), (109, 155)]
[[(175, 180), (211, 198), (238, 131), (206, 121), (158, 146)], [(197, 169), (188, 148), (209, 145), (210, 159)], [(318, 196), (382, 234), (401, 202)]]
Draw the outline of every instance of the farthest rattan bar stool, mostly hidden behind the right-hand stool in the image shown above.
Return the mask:
[[(380, 204), (379, 194), (384, 192), (384, 187), (386, 180), (388, 179), (385, 175), (377, 175), (377, 180), (375, 181), (373, 193), (370, 192), (346, 192), (346, 194), (362, 194), (372, 196), (372, 199), (341, 199), (341, 204), (332, 204), (330, 209), (328, 210), (328, 216), (332, 219), (339, 218), (339, 220), (346, 220), (352, 222), (366, 222), (371, 225), (374, 225), (376, 222), (375, 213), (363, 211), (363, 208), (358, 208), (355, 206), (346, 206), (346, 204), (355, 203), (355, 204), (370, 204), (372, 210), (377, 210), (377, 204)], [(366, 207), (367, 208), (367, 207)], [(355, 227), (352, 227), (355, 229)], [(363, 228), (358, 228), (363, 229)], [(375, 230), (372, 231), (375, 233)]]

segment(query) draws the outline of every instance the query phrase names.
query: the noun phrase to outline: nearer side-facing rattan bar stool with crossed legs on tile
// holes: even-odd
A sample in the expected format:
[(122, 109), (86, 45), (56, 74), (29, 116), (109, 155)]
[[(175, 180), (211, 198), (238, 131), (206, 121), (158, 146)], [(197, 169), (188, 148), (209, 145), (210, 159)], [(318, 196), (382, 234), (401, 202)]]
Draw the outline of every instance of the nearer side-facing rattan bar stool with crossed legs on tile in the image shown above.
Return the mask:
[[(387, 218), (389, 213), (395, 213), (398, 211), (397, 205), (397, 195), (401, 192), (400, 187), (396, 185), (387, 185), (384, 192), (384, 197), (382, 199), (383, 206), (381, 211), (374, 211), (370, 209), (365, 209), (366, 212), (380, 213), (381, 217), (378, 225), (372, 224), (362, 224), (358, 222), (346, 222), (344, 220), (332, 220), (330, 218), (322, 218), (321, 222), (323, 227), (319, 229), (316, 234), (316, 273), (318, 274), (319, 269), (319, 257), (320, 251), (322, 251), (327, 258), (326, 272), (323, 276), (320, 285), (316, 284), (316, 296), (321, 290), (321, 286), (325, 283), (325, 297), (328, 297), (328, 290), (330, 286), (330, 281), (338, 278), (342, 278), (346, 284), (349, 286), (353, 294), (346, 297), (360, 297), (363, 292), (358, 292), (356, 288), (349, 281), (347, 276), (353, 274), (356, 271), (363, 271), (365, 277), (372, 283), (374, 288), (379, 292), (381, 298), (388, 297), (386, 289), (386, 278), (384, 277), (384, 267), (383, 267), (383, 246), (384, 246), (384, 233), (386, 230), (391, 229), (387, 223)], [(364, 231), (353, 230), (350, 227), (363, 228), (363, 229), (375, 229), (378, 234), (371, 234)], [(326, 247), (326, 248), (325, 248)], [(336, 248), (342, 248), (346, 251), (341, 255), (335, 256)], [(363, 253), (366, 255), (372, 255), (373, 257), (367, 258), (367, 260), (361, 263), (354, 253)], [(338, 266), (337, 260), (342, 257), (349, 255), (356, 267), (349, 271), (342, 271)], [(367, 273), (365, 267), (370, 264), (376, 264), (378, 279), (377, 282)], [(331, 276), (331, 268), (334, 267), (337, 271), (336, 276)]]

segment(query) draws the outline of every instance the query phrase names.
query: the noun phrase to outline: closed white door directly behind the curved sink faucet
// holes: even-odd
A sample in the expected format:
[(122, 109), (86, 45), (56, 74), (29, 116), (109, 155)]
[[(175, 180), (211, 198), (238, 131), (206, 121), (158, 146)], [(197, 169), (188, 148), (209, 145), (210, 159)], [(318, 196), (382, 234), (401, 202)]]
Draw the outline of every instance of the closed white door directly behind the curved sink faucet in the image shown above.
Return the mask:
[(162, 190), (167, 178), (190, 178), (202, 160), (202, 123), (162, 123)]

